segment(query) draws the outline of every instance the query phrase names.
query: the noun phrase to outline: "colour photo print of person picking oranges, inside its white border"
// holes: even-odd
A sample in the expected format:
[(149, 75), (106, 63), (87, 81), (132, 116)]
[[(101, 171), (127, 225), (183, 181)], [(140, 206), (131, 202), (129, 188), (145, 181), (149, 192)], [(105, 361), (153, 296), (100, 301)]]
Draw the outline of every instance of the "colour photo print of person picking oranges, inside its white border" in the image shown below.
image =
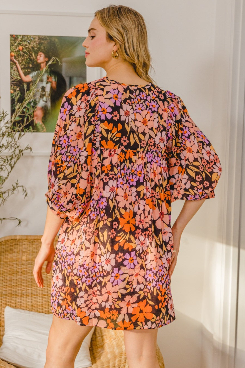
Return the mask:
[[(86, 82), (83, 40), (74, 36), (10, 35), (11, 114), (16, 109), (16, 93), (19, 103), (30, 91), (32, 99), (27, 108), (33, 110), (33, 131), (53, 132), (66, 89)], [(17, 123), (23, 123), (24, 117), (17, 118)]]

